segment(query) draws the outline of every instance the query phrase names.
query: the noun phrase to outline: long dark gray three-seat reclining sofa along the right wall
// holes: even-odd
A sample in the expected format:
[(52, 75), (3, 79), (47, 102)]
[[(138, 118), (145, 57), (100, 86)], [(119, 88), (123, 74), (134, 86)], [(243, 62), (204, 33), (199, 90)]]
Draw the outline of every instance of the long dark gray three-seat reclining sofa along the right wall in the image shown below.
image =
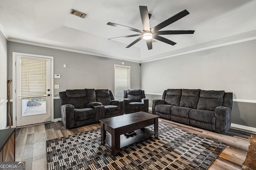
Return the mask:
[(160, 117), (225, 134), (231, 125), (233, 93), (200, 89), (167, 89), (153, 100), (152, 113)]

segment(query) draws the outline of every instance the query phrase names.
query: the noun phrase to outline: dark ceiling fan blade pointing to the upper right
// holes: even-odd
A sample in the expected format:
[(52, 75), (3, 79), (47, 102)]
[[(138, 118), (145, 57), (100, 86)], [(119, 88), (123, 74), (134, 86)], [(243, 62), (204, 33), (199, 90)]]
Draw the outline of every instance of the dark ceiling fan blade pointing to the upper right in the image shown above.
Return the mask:
[(151, 29), (151, 31), (156, 32), (159, 29), (162, 29), (163, 27), (166, 27), (170, 25), (171, 23), (174, 23), (177, 20), (180, 20), (180, 18), (183, 18), (184, 16), (188, 15), (189, 12), (187, 10), (183, 10), (182, 12), (179, 12), (178, 14), (172, 16), (171, 18), (159, 23), (154, 28)]

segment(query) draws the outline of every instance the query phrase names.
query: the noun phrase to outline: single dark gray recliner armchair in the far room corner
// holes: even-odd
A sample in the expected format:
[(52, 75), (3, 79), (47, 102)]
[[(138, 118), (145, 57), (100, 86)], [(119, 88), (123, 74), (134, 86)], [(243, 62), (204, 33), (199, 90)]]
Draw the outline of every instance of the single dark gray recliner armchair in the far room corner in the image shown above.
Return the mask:
[(138, 111), (148, 112), (148, 99), (145, 97), (144, 90), (124, 90), (124, 113), (134, 113)]

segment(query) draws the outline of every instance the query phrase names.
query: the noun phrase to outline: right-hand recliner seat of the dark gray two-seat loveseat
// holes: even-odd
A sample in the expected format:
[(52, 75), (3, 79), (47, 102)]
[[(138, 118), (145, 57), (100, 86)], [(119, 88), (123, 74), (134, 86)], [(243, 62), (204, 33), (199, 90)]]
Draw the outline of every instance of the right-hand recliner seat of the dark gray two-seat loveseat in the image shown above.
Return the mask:
[(95, 92), (96, 101), (102, 103), (105, 107), (105, 118), (124, 114), (124, 102), (114, 100), (112, 90), (100, 89), (95, 90)]

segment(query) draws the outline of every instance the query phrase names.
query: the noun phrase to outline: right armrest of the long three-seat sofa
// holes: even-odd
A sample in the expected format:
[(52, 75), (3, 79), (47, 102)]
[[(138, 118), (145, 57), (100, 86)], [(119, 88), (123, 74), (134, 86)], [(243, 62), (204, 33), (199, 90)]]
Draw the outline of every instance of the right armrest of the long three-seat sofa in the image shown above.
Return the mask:
[(218, 106), (215, 108), (215, 132), (225, 134), (231, 125), (231, 109)]

